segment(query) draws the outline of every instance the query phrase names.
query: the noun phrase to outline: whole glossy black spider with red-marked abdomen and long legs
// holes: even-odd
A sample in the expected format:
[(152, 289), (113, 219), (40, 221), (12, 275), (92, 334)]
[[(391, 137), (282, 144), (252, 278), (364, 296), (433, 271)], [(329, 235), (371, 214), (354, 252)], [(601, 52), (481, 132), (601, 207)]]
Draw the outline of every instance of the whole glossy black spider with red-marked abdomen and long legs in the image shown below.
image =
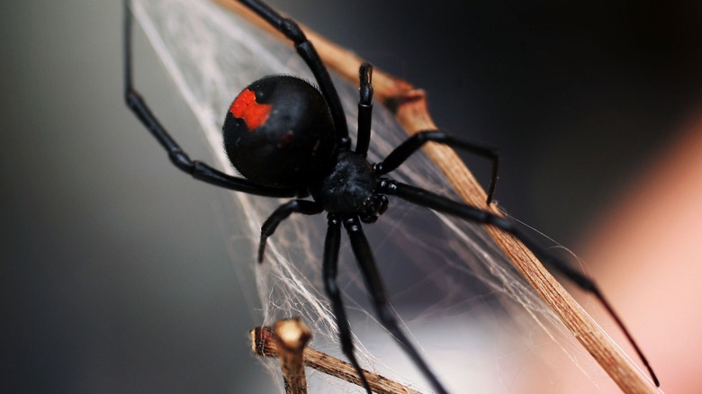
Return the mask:
[[(358, 138), (356, 148), (352, 149), (344, 110), (329, 78), (327, 68), (322, 64), (316, 49), (307, 40), (297, 23), (282, 17), (257, 0), (239, 1), (293, 41), (295, 49), (311, 68), (320, 86), (318, 90), (294, 76), (266, 76), (248, 85), (238, 94), (224, 121), (224, 145), (229, 160), (245, 178), (226, 175), (202, 162), (191, 160), (168, 135), (133, 88), (129, 0), (124, 0), (125, 100), (139, 121), (166, 148), (175, 166), (196, 179), (243, 193), (266, 197), (299, 197), (284, 203), (266, 219), (261, 228), (259, 262), (263, 261), (266, 238), (270, 237), (275, 228), (288, 216), (293, 213), (313, 215), (325, 210), (328, 212), (329, 228), (324, 245), (322, 272), (325, 290), (337, 318), (342, 350), (356, 368), (365, 390), (371, 392), (361, 367), (356, 361), (351, 329), (336, 280), (342, 226), (347, 229), (354, 255), (360, 265), (365, 285), (381, 324), (407, 351), (434, 389), (437, 392), (446, 392), (415, 346), (398, 326), (397, 319), (390, 308), (388, 296), (383, 289), (383, 281), (378, 273), (374, 255), (361, 227), (361, 222), (372, 223), (383, 214), (388, 207), (388, 195), (400, 197), (432, 210), (446, 212), (458, 218), (488, 224), (518, 237), (541, 257), (542, 261), (551, 264), (554, 269), (563, 273), (582, 289), (594, 294), (634, 344), (632, 337), (596, 284), (525, 237), (510, 219), (462, 202), (451, 201), (409, 184), (401, 184), (384, 176), (401, 166), (426, 142), (439, 142), (491, 159), (493, 174), (488, 193), (488, 202), (490, 202), (499, 162), (499, 157), (494, 150), (454, 139), (438, 130), (427, 130), (405, 140), (384, 160), (375, 164), (369, 163), (366, 152), (371, 138), (373, 67), (364, 64), (360, 68)], [(310, 195), (312, 200), (301, 199)], [(635, 349), (658, 385), (653, 370), (637, 345)]]

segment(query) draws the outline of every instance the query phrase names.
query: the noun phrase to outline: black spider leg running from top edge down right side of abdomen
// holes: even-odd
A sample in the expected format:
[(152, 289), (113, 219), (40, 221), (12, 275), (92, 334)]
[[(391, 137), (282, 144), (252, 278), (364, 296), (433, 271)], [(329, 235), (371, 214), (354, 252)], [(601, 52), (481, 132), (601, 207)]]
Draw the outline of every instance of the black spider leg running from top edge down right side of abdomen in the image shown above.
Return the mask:
[(334, 120), (334, 128), (337, 132), (338, 148), (349, 148), (351, 139), (348, 137), (348, 128), (344, 108), (341, 106), (341, 100), (338, 98), (337, 89), (331, 82), (329, 71), (324, 67), (317, 49), (307, 39), (305, 33), (300, 29), (297, 22), (290, 18), (284, 18), (280, 13), (277, 13), (273, 8), (258, 0), (238, 0), (239, 3), (247, 6), (251, 11), (257, 13), (275, 30), (280, 31), (288, 40), (292, 40), (297, 50), (298, 55), (310, 67), (312, 74), (320, 84), (320, 91), (329, 104), (329, 111)]

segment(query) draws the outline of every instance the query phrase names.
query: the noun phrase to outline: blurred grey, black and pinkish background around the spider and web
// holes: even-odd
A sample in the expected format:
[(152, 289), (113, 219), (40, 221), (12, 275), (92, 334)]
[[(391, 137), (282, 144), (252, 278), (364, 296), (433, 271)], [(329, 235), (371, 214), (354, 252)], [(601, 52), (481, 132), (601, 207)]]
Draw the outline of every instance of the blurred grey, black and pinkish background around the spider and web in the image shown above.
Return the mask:
[[(673, 306), (699, 299), (702, 262), (675, 243), (641, 258), (665, 235), (698, 244), (694, 225), (671, 224), (700, 222), (702, 179), (668, 169), (702, 168), (676, 153), (702, 155), (698, 2), (270, 3), (426, 89), (442, 130), (500, 148), (500, 204), (581, 255), (630, 327), (652, 327), (635, 334), (664, 389), (694, 390), (682, 341), (698, 326)], [(247, 353), (253, 269), (231, 264), (223, 200), (177, 172), (122, 102), (121, 2), (4, 2), (0, 30), (0, 388), (273, 390)], [(195, 128), (148, 45), (138, 56), (159, 117)], [(199, 139), (181, 142), (206, 157)], [(466, 161), (487, 184), (489, 166)], [(656, 204), (668, 191), (682, 200)], [(638, 224), (662, 204), (680, 210)], [(635, 238), (642, 226), (661, 234)], [(623, 234), (630, 246), (608, 262)]]

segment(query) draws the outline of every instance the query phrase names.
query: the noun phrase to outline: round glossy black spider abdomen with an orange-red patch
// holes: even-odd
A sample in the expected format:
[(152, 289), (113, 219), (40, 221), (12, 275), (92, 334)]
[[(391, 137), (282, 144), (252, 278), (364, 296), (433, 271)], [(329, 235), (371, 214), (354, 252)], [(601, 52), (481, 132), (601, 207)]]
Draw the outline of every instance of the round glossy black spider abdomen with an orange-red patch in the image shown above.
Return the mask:
[(294, 76), (265, 76), (229, 107), (222, 127), (231, 164), (247, 179), (301, 187), (329, 167), (334, 125), (320, 92)]

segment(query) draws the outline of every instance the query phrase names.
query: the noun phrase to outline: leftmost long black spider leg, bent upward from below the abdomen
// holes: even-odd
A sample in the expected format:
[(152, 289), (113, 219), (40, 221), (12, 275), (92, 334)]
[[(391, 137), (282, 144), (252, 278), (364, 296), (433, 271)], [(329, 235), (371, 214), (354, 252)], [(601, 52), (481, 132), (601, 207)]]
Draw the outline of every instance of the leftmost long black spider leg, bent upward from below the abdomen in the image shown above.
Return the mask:
[(175, 142), (175, 139), (168, 134), (157, 117), (151, 112), (139, 92), (134, 89), (131, 72), (131, 23), (130, 0), (124, 0), (124, 100), (130, 110), (139, 118), (139, 121), (146, 126), (161, 146), (166, 149), (171, 162), (185, 173), (193, 175), (195, 179), (238, 192), (267, 197), (293, 197), (297, 194), (297, 191), (293, 189), (260, 186), (245, 178), (224, 174), (205, 163), (188, 157), (183, 148)]

